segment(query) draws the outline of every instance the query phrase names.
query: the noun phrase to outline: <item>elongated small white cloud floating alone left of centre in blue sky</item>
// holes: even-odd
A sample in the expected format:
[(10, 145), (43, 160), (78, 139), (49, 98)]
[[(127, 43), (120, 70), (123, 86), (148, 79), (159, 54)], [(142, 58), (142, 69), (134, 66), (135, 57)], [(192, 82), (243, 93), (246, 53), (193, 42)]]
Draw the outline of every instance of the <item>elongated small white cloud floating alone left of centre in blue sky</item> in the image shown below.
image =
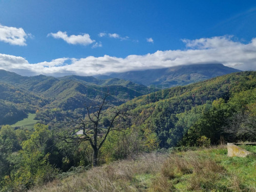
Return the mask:
[(95, 42), (95, 40), (92, 40), (90, 38), (90, 35), (87, 33), (84, 33), (82, 35), (67, 35), (67, 32), (58, 31), (57, 33), (49, 33), (47, 36), (52, 36), (54, 38), (61, 38), (65, 40), (68, 44), (80, 44), (80, 45), (89, 45)]

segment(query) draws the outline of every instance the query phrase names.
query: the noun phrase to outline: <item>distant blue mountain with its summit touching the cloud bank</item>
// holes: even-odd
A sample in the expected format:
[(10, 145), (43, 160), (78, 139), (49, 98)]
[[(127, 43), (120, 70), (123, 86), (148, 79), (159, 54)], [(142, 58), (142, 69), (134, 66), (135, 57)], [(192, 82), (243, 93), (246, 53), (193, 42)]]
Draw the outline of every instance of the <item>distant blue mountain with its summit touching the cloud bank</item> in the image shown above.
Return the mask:
[[(213, 63), (112, 73), (109, 77), (122, 78), (145, 86), (154, 85), (160, 88), (169, 88), (234, 72), (240, 72), (240, 70), (226, 67), (220, 63)], [(102, 78), (106, 77), (102, 76)]]

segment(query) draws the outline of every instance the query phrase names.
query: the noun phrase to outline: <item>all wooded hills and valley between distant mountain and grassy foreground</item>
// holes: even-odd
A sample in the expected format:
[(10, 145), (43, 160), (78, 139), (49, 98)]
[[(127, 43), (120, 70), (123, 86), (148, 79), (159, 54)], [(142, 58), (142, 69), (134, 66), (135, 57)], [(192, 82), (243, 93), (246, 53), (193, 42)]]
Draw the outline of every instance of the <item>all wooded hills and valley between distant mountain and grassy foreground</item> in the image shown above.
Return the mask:
[[(115, 78), (17, 80), (2, 73), (12, 75), (12, 86), (0, 84), (1, 191), (27, 190), (136, 154), (256, 139), (254, 71), (163, 90)], [(7, 125), (28, 113), (38, 120), (33, 130)]]

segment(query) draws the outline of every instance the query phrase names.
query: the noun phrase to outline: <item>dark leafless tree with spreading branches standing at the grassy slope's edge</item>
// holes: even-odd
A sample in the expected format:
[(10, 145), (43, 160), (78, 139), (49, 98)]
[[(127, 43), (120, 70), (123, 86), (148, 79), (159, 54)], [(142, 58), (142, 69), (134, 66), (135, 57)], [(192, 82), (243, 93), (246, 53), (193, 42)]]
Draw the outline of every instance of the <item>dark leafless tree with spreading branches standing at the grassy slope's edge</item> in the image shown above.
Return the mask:
[[(109, 90), (103, 95), (98, 96), (100, 102), (91, 102), (85, 105), (87, 110), (86, 117), (71, 119), (67, 122), (73, 125), (68, 130), (66, 135), (57, 135), (61, 140), (68, 143), (77, 143), (88, 141), (93, 148), (93, 166), (98, 164), (98, 153), (108, 137), (109, 133), (113, 130), (122, 131), (125, 126), (121, 126), (120, 122), (126, 121), (128, 114), (125, 109), (112, 106), (109, 103), (108, 98), (110, 97)], [(120, 126), (116, 127), (115, 125)], [(80, 130), (81, 135), (77, 135), (77, 130)]]

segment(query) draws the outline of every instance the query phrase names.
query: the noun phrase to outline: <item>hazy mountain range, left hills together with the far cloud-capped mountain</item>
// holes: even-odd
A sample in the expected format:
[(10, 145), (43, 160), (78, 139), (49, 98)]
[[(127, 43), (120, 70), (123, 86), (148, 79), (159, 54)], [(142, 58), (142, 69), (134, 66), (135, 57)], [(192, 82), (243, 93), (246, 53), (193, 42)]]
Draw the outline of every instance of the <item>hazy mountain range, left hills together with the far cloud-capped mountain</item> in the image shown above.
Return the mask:
[(77, 75), (55, 78), (45, 75), (26, 77), (0, 70), (0, 125), (16, 122), (37, 110), (60, 109), (86, 113), (83, 111), (84, 103), (97, 100), (96, 97), (106, 90), (111, 93), (112, 103), (120, 105), (160, 88), (237, 71), (221, 64), (208, 64), (131, 71), (97, 78)]

